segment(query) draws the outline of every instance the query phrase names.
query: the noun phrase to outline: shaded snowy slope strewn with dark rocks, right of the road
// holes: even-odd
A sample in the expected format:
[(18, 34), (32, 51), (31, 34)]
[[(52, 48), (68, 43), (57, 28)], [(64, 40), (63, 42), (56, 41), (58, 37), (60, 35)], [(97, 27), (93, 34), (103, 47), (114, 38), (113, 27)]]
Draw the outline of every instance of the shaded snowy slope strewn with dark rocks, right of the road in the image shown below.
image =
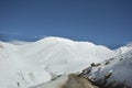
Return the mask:
[(101, 88), (132, 88), (132, 51), (92, 67), (86, 76)]

